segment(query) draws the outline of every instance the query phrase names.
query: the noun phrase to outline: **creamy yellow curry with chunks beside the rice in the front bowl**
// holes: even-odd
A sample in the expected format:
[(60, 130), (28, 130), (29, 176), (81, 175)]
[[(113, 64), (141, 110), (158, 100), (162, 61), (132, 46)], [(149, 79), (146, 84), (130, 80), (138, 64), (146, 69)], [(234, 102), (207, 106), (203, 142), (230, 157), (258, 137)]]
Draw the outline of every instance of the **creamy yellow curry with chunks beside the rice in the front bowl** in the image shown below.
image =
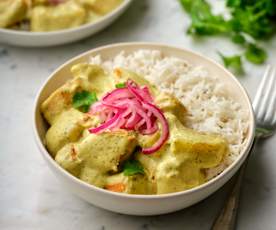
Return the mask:
[[(80, 63), (72, 67), (73, 78), (57, 89), (41, 106), (50, 125), (46, 147), (65, 170), (79, 179), (115, 192), (164, 194), (183, 191), (206, 182), (204, 171), (218, 166), (228, 152), (226, 140), (184, 126), (186, 109), (172, 95), (160, 92), (143, 77), (125, 69), (107, 73), (100, 66)], [(117, 83), (132, 79), (147, 85), (154, 103), (169, 123), (169, 139), (157, 152), (145, 155), (160, 133), (142, 135), (118, 129), (91, 134), (100, 124), (97, 116), (72, 106), (76, 92), (95, 92), (101, 98)], [(144, 173), (126, 175), (123, 165), (135, 159)]]

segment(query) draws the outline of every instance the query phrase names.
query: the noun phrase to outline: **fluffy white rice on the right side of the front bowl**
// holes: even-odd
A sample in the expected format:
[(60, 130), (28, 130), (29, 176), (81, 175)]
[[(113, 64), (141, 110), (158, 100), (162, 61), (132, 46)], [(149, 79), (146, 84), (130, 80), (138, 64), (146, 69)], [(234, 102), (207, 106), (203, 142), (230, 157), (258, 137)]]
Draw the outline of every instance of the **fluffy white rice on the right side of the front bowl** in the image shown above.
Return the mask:
[(123, 67), (143, 75), (183, 103), (187, 109), (187, 127), (225, 137), (229, 154), (218, 167), (207, 170), (208, 179), (221, 173), (242, 151), (248, 130), (248, 112), (225, 94), (223, 82), (209, 76), (204, 67), (192, 66), (180, 58), (164, 57), (157, 50), (121, 52), (110, 60), (95, 56), (91, 57), (91, 63), (108, 71)]

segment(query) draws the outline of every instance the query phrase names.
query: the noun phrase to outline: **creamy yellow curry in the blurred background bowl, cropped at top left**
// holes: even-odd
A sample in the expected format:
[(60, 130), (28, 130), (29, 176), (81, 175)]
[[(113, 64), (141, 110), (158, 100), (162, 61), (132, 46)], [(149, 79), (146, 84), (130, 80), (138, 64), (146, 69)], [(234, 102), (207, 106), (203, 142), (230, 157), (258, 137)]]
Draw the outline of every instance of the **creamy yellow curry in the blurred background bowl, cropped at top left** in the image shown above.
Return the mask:
[(93, 23), (123, 0), (2, 0), (0, 28), (49, 32)]

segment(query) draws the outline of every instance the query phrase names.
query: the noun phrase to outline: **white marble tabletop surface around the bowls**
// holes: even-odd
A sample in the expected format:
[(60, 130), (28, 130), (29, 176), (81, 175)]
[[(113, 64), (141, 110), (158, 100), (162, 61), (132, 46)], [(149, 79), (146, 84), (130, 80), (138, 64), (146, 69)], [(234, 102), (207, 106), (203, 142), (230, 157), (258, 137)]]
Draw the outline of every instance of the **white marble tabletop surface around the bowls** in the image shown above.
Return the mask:
[[(218, 1), (217, 1), (218, 2)], [(224, 38), (195, 41), (176, 0), (136, 0), (111, 27), (75, 44), (27, 49), (0, 45), (0, 229), (155, 230), (210, 228), (229, 185), (183, 211), (125, 216), (93, 207), (62, 188), (34, 144), (31, 113), (46, 77), (69, 58), (115, 42), (154, 41), (191, 48), (214, 59), (239, 51)], [(264, 44), (275, 63), (276, 39)], [(242, 84), (253, 97), (264, 66), (246, 65)], [(258, 146), (247, 171), (238, 221), (242, 230), (276, 229), (276, 136)]]

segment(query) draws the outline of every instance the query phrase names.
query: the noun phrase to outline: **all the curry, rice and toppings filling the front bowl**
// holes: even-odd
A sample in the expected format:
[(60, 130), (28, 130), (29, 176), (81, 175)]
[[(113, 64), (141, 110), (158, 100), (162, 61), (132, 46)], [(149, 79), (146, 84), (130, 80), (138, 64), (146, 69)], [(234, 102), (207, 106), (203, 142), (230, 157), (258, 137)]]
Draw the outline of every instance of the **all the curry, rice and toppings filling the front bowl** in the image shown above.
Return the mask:
[[(170, 65), (186, 88), (174, 88), (181, 82)], [(142, 50), (93, 57), (71, 72), (41, 112), (48, 151), (82, 181), (129, 194), (183, 191), (221, 173), (243, 148), (245, 111), (183, 60)]]

